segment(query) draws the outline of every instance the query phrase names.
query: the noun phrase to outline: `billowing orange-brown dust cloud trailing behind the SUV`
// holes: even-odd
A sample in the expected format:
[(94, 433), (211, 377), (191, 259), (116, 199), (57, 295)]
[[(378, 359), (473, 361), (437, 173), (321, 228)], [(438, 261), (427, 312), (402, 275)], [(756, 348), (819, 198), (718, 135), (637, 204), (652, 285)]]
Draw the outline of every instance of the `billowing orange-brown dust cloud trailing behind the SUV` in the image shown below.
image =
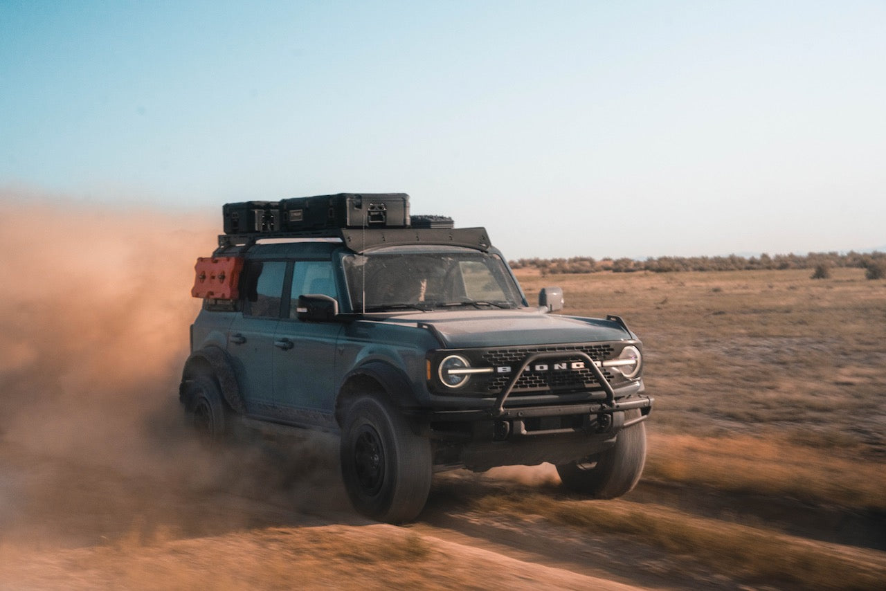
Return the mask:
[(0, 544), (207, 533), (329, 497), (330, 441), (208, 450), (184, 424), (213, 214), (0, 191)]

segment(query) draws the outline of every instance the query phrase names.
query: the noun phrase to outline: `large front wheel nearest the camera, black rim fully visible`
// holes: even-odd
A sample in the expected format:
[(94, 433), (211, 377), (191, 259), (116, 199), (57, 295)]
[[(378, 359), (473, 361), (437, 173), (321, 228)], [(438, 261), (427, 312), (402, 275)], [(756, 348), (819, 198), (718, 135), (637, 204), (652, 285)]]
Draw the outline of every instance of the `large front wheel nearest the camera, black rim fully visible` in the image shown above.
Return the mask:
[(412, 432), (385, 400), (362, 396), (348, 408), (341, 472), (354, 509), (399, 524), (424, 509), (431, 490), (431, 442)]

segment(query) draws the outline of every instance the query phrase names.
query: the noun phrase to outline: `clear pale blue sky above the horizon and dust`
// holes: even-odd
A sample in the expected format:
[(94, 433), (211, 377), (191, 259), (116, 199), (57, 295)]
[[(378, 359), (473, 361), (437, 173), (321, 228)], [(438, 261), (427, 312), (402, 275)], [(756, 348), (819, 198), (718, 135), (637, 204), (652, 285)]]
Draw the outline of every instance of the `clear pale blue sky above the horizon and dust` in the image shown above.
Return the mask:
[(884, 105), (882, 0), (0, 0), (0, 194), (405, 191), (511, 259), (882, 247)]

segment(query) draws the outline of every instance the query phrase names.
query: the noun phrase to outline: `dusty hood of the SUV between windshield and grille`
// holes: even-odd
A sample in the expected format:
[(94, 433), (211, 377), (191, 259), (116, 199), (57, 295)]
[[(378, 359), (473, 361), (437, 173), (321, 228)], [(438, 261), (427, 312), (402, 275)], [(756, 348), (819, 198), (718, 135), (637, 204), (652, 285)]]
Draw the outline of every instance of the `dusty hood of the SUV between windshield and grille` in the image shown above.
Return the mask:
[(465, 310), (389, 316), (388, 323), (431, 325), (450, 348), (554, 345), (634, 338), (621, 324), (599, 318), (545, 314), (536, 309)]

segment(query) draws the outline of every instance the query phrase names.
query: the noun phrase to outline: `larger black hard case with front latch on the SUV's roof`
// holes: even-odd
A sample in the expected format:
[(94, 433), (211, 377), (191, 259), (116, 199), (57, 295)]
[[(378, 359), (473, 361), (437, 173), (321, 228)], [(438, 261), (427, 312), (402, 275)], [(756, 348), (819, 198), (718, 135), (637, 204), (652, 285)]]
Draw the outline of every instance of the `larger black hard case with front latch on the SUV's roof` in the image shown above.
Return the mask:
[(407, 228), (406, 193), (338, 193), (280, 201), (284, 231), (324, 228)]

